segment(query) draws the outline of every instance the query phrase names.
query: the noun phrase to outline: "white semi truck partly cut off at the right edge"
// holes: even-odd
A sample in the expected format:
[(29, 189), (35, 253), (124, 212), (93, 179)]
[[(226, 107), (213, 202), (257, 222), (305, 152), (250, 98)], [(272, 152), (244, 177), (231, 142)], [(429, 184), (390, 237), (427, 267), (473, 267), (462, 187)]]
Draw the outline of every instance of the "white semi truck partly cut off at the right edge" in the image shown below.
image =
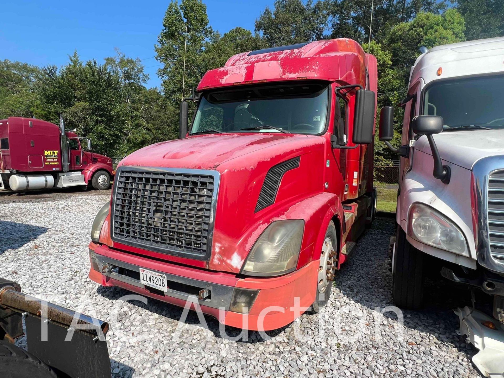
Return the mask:
[[(456, 309), (460, 333), (486, 376), (504, 374), (504, 38), (430, 50), (411, 69), (402, 102), (402, 146), (390, 145), (393, 107), (380, 140), (401, 156), (393, 297), (422, 304), (423, 278), (441, 276), (493, 297), (493, 311)], [(473, 296), (474, 298), (474, 296)]]

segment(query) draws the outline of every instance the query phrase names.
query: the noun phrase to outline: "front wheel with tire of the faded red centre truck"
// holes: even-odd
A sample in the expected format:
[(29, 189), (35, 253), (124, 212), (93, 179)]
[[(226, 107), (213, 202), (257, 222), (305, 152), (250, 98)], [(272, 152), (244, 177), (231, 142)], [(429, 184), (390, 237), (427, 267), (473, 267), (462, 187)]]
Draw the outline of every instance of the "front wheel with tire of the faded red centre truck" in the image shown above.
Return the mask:
[[(326, 236), (324, 237), (324, 243), (322, 245), (321, 251), (321, 265), (319, 268), (319, 276), (317, 277), (316, 283), (316, 296), (315, 301), (311, 305), (310, 313), (318, 313), (322, 307), (324, 307), (329, 298), (331, 297), (331, 288), (333, 286), (334, 272), (337, 264), (337, 250), (338, 250), (338, 236), (336, 234), (336, 227), (334, 222), (331, 221), (327, 227)], [(330, 265), (328, 263), (331, 263)], [(321, 271), (322, 269), (322, 271)], [(327, 270), (331, 270), (331, 279), (329, 280), (329, 274)], [(326, 275), (326, 280), (322, 278)], [(324, 282), (321, 283), (321, 280)]]

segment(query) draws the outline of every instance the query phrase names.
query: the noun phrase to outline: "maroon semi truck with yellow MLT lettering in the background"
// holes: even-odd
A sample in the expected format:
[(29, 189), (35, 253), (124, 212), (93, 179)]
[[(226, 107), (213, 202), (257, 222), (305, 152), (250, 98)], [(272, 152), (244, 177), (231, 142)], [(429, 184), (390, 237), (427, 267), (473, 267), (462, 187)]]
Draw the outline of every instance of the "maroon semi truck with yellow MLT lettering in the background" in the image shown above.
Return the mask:
[[(91, 140), (41, 119), (0, 119), (0, 189), (83, 186), (108, 189), (112, 159), (91, 152)], [(85, 147), (82, 143), (85, 142)], [(88, 151), (85, 151), (87, 149)]]

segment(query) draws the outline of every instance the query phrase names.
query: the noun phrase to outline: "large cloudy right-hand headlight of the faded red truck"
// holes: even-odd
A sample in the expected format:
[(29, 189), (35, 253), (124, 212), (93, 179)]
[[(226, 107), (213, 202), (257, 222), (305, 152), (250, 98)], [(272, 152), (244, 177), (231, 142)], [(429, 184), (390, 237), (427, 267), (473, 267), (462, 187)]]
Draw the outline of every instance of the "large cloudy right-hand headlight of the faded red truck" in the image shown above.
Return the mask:
[(278, 276), (296, 269), (304, 221), (286, 219), (272, 222), (250, 250), (242, 274)]

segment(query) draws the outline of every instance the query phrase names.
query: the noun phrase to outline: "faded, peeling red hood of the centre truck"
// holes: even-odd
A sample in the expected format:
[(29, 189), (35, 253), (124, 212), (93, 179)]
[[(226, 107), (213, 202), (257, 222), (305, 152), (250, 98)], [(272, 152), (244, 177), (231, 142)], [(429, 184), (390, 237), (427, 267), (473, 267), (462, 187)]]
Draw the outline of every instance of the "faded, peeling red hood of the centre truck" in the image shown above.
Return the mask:
[[(217, 170), (220, 184), (210, 260), (193, 264), (192, 260), (180, 261), (168, 255), (159, 258), (239, 273), (261, 232), (274, 217), (285, 219), (285, 209), (292, 205), (292, 198), (322, 190), (324, 170), (317, 167), (325, 166), (325, 146), (326, 139), (314, 135), (201, 135), (145, 147), (123, 159), (120, 165)], [(275, 205), (256, 211), (268, 170), (298, 156), (300, 165), (285, 174)]]

